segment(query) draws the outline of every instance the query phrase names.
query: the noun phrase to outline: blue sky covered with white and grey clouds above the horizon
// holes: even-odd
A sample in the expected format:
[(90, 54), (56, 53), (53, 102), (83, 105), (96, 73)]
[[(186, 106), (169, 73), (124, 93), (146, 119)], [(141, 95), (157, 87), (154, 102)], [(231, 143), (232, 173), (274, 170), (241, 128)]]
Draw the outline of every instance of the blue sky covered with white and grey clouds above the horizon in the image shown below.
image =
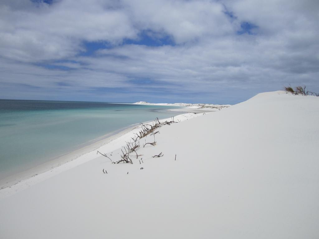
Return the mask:
[(1, 0), (0, 98), (236, 104), (319, 92), (318, 0)]

